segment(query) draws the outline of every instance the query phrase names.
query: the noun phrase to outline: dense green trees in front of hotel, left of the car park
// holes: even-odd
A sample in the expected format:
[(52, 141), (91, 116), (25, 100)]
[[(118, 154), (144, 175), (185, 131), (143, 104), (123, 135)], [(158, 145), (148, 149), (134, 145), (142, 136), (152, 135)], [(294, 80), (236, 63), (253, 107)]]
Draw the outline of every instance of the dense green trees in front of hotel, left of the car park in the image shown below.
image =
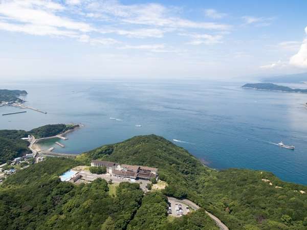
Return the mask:
[[(78, 164), (51, 157), (10, 176), (0, 186), (0, 229), (164, 229), (168, 224), (161, 192), (144, 196), (138, 183), (122, 182), (110, 196), (103, 179), (78, 186), (61, 182), (58, 176)], [(202, 224), (216, 229), (211, 219)]]

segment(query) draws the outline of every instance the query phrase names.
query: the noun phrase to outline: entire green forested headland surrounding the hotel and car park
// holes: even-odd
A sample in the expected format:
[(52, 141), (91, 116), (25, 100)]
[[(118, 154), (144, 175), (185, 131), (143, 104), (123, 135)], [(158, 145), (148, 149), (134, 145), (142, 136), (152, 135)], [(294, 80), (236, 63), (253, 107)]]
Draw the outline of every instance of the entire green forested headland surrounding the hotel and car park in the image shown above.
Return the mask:
[[(93, 159), (159, 169), (167, 187), (146, 194), (136, 183), (116, 191), (104, 179), (60, 181), (59, 175)], [(306, 229), (306, 186), (270, 172), (217, 171), (157, 135), (135, 136), (75, 159), (50, 157), (8, 177), (0, 186), (1, 229), (218, 229), (205, 210), (229, 229)], [(188, 198), (201, 209), (167, 216), (167, 198)]]

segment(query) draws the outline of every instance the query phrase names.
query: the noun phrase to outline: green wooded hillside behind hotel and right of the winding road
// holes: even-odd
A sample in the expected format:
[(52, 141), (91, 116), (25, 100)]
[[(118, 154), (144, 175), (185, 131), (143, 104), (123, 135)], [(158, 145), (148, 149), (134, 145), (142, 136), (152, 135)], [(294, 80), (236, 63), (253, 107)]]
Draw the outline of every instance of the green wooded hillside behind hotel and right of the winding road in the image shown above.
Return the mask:
[(230, 229), (307, 228), (307, 195), (299, 192), (307, 192), (306, 186), (283, 182), (268, 172), (212, 170), (160, 136), (136, 136), (78, 157), (85, 163), (92, 158), (159, 168), (160, 178), (168, 183), (164, 194), (187, 197)]

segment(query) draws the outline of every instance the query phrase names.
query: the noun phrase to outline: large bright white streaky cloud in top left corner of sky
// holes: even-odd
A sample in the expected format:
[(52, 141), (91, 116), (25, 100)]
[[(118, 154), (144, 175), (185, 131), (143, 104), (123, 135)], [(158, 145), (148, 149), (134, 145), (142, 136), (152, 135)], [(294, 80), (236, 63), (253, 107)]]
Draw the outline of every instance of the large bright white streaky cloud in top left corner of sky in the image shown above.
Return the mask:
[[(78, 1), (67, 1), (78, 4)], [(116, 44), (113, 38), (90, 38), (84, 32), (98, 32), (85, 22), (58, 16), (56, 12), (66, 10), (62, 5), (48, 0), (1, 1), (0, 30), (31, 35), (49, 35), (76, 38), (91, 44)]]

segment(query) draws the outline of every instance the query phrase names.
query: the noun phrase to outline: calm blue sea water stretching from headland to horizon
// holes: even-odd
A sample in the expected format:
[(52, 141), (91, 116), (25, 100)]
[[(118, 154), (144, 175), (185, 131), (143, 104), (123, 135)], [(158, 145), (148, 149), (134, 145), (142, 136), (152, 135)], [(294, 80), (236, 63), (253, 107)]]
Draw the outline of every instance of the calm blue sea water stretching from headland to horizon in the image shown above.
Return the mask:
[[(85, 126), (55, 151), (81, 153), (134, 135), (155, 133), (216, 169), (272, 171), (307, 184), (307, 95), (243, 89), (227, 82), (6, 83), (25, 89), (29, 106), (46, 110), (0, 117), (0, 129), (56, 123)], [(19, 111), (0, 107), (0, 113)], [(109, 119), (109, 118), (115, 118)], [(137, 127), (136, 125), (141, 125)], [(283, 141), (295, 150), (272, 143)]]

